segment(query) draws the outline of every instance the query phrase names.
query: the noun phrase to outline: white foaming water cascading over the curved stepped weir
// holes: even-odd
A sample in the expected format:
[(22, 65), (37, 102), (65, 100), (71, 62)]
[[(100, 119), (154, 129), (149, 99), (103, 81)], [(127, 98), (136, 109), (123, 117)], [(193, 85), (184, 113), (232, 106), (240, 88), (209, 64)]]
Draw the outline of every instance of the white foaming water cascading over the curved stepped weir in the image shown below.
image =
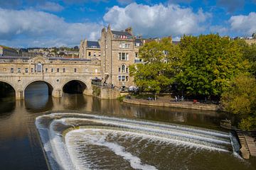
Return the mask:
[[(45, 127), (40, 123), (41, 118), (44, 118), (45, 116), (53, 118), (53, 121), (50, 123), (48, 130), (46, 130)], [(54, 120), (54, 118), (57, 118), (58, 120)], [(181, 125), (165, 125), (139, 120), (110, 118), (100, 115), (53, 113), (50, 115), (43, 115), (36, 118), (36, 126), (40, 133), (41, 141), (44, 145), (44, 149), (46, 150), (47, 157), (53, 169), (54, 167), (57, 167), (54, 166), (54, 164), (58, 164), (61, 169), (80, 169), (78, 163), (83, 164), (83, 167), (87, 167), (88, 169), (88, 164), (90, 162), (86, 162), (85, 156), (75, 156), (82, 158), (82, 160), (84, 160), (83, 162), (78, 162), (78, 160), (75, 160), (75, 152), (73, 152), (72, 149), (69, 148), (70, 145), (67, 145), (67, 142), (65, 143), (62, 135), (55, 131), (56, 125), (62, 124), (63, 126), (68, 125), (70, 127), (74, 126), (74, 123), (79, 123), (79, 125), (82, 125), (83, 123), (88, 123), (88, 121), (100, 123), (103, 127), (106, 128), (119, 128), (119, 131), (122, 130), (122, 133), (125, 134), (128, 133), (127, 131), (129, 131), (129, 135), (146, 137), (149, 142), (157, 140), (165, 144), (170, 143), (175, 145), (183, 145), (185, 147), (195, 147), (196, 149), (209, 149), (221, 152), (228, 152), (228, 150), (223, 149), (217, 144), (231, 145), (230, 142), (227, 140), (227, 136), (229, 137), (228, 133), (218, 132), (215, 130), (208, 131), (203, 128), (193, 129), (192, 127), (185, 127)], [(110, 129), (107, 131), (110, 131)], [(79, 132), (79, 130), (72, 130), (71, 132)], [(71, 132), (68, 132), (68, 134), (71, 134)], [(48, 137), (46, 137), (47, 134)], [(65, 137), (68, 136), (66, 135)], [(89, 137), (89, 141), (91, 143), (93, 142), (94, 144), (96, 143), (99, 146), (104, 146), (111, 149), (112, 152), (129, 161), (131, 166), (135, 169), (155, 169), (154, 166), (142, 164), (139, 157), (136, 157), (131, 153), (126, 152), (124, 150), (124, 147), (122, 147), (121, 145), (117, 145), (113, 142), (107, 142), (104, 138), (99, 138), (100, 136), (95, 138), (95, 136), (89, 135), (87, 137)], [(68, 140), (68, 138), (66, 138), (66, 140)], [(71, 162), (70, 160), (73, 161)]]

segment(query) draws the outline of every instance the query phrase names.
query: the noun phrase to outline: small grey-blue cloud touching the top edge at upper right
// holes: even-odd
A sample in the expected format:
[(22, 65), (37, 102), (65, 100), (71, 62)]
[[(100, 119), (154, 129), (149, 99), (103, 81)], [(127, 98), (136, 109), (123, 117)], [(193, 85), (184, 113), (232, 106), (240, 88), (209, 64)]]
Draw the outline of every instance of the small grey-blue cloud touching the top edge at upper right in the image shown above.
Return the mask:
[(242, 10), (245, 0), (218, 0), (217, 5), (227, 8), (228, 12), (233, 13), (238, 9)]

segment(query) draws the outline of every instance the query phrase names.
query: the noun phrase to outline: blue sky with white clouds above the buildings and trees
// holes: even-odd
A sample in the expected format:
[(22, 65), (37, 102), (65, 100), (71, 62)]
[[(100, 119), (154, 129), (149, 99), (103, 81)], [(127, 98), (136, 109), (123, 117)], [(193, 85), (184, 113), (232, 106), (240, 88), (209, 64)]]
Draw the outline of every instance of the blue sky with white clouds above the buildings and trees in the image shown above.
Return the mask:
[(143, 38), (256, 33), (256, 0), (0, 0), (0, 45), (73, 47), (103, 27)]

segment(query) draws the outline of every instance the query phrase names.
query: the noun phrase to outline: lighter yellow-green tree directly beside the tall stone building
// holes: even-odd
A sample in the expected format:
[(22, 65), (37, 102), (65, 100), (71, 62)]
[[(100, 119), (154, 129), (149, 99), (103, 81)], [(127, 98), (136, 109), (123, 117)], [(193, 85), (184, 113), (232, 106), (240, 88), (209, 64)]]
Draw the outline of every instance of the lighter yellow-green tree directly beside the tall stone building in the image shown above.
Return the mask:
[(139, 49), (139, 57), (144, 64), (133, 64), (129, 67), (130, 76), (143, 91), (154, 92), (168, 89), (174, 81), (174, 74), (178, 64), (178, 47), (173, 45), (171, 38), (161, 41), (148, 42)]

